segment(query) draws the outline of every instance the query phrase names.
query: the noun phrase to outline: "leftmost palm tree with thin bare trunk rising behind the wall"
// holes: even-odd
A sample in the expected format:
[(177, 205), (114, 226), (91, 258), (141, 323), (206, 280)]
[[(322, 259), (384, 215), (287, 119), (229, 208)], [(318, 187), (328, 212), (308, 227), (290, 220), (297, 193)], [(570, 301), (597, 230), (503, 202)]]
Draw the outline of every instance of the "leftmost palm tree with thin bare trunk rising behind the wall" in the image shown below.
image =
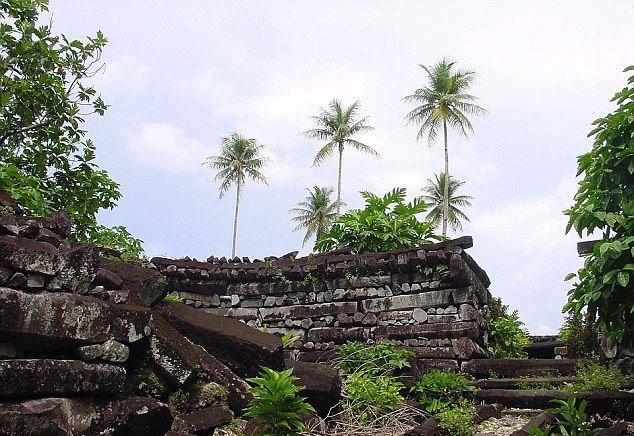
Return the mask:
[(247, 179), (267, 184), (266, 177), (260, 172), (268, 159), (262, 156), (263, 145), (258, 145), (255, 139), (233, 133), (228, 138), (220, 140), (222, 149), (217, 156), (209, 156), (203, 165), (207, 165), (213, 170), (218, 170), (214, 181), (220, 181), (220, 198), (231, 185), (236, 185), (236, 210), (233, 218), (233, 244), (231, 246), (231, 257), (236, 255), (236, 237), (238, 232), (238, 208), (240, 206), (240, 195)]

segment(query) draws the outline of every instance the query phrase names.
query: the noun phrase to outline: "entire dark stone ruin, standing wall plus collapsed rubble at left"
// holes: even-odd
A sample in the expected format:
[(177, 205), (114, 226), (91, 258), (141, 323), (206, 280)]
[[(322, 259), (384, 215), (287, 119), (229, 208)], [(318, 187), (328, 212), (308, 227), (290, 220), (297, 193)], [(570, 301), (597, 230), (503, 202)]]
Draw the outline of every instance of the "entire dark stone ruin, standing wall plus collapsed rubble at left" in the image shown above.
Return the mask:
[(346, 340), (395, 340), (413, 371), (485, 355), (489, 280), (470, 238), (142, 266), (69, 243), (63, 212), (23, 216), (1, 190), (0, 208), (0, 435), (212, 434), (243, 413), (260, 366), (294, 368), (325, 416), (341, 380), (314, 362)]

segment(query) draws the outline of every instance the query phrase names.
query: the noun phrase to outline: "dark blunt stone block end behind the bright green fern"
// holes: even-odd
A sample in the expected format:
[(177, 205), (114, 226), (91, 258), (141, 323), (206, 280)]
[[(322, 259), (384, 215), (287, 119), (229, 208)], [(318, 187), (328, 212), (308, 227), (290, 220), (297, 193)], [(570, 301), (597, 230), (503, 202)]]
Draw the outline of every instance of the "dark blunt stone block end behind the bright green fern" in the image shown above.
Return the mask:
[(284, 365), (286, 368), (293, 368), (293, 375), (299, 377), (297, 384), (306, 388), (300, 392), (300, 396), (306, 397), (320, 416), (328, 415), (339, 403), (341, 377), (336, 369), (328, 365), (290, 359), (285, 359)]

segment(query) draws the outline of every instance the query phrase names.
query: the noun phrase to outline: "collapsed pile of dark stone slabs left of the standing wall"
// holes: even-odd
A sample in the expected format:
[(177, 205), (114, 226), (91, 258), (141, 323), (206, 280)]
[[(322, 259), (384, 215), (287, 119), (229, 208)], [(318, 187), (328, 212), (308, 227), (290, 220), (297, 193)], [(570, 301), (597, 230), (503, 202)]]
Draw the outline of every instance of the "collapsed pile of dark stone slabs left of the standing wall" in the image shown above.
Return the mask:
[[(21, 215), (0, 190), (0, 435), (212, 434), (243, 413), (245, 377), (283, 369), (282, 342), (163, 301), (167, 279), (67, 240), (63, 212)], [(340, 379), (296, 368), (321, 412)]]

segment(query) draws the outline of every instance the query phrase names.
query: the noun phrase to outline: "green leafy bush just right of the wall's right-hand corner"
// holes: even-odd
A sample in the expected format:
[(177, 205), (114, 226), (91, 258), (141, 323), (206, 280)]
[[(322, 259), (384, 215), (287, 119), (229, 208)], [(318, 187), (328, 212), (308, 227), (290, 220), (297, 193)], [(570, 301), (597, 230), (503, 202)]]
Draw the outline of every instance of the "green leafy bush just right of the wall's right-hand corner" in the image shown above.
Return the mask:
[(517, 310), (507, 316), (489, 321), (488, 350), (492, 357), (499, 359), (526, 358), (524, 347), (531, 343), (524, 323), (520, 321)]

